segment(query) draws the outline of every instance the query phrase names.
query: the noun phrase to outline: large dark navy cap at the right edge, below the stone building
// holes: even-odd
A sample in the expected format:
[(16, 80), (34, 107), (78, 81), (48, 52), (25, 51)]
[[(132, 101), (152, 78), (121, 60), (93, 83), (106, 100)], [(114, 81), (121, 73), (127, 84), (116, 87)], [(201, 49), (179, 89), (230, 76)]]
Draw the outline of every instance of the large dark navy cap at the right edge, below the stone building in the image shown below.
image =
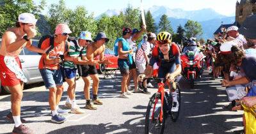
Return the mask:
[(243, 34), (246, 38), (256, 39), (256, 15), (247, 17), (242, 26), (239, 28), (239, 33)]

